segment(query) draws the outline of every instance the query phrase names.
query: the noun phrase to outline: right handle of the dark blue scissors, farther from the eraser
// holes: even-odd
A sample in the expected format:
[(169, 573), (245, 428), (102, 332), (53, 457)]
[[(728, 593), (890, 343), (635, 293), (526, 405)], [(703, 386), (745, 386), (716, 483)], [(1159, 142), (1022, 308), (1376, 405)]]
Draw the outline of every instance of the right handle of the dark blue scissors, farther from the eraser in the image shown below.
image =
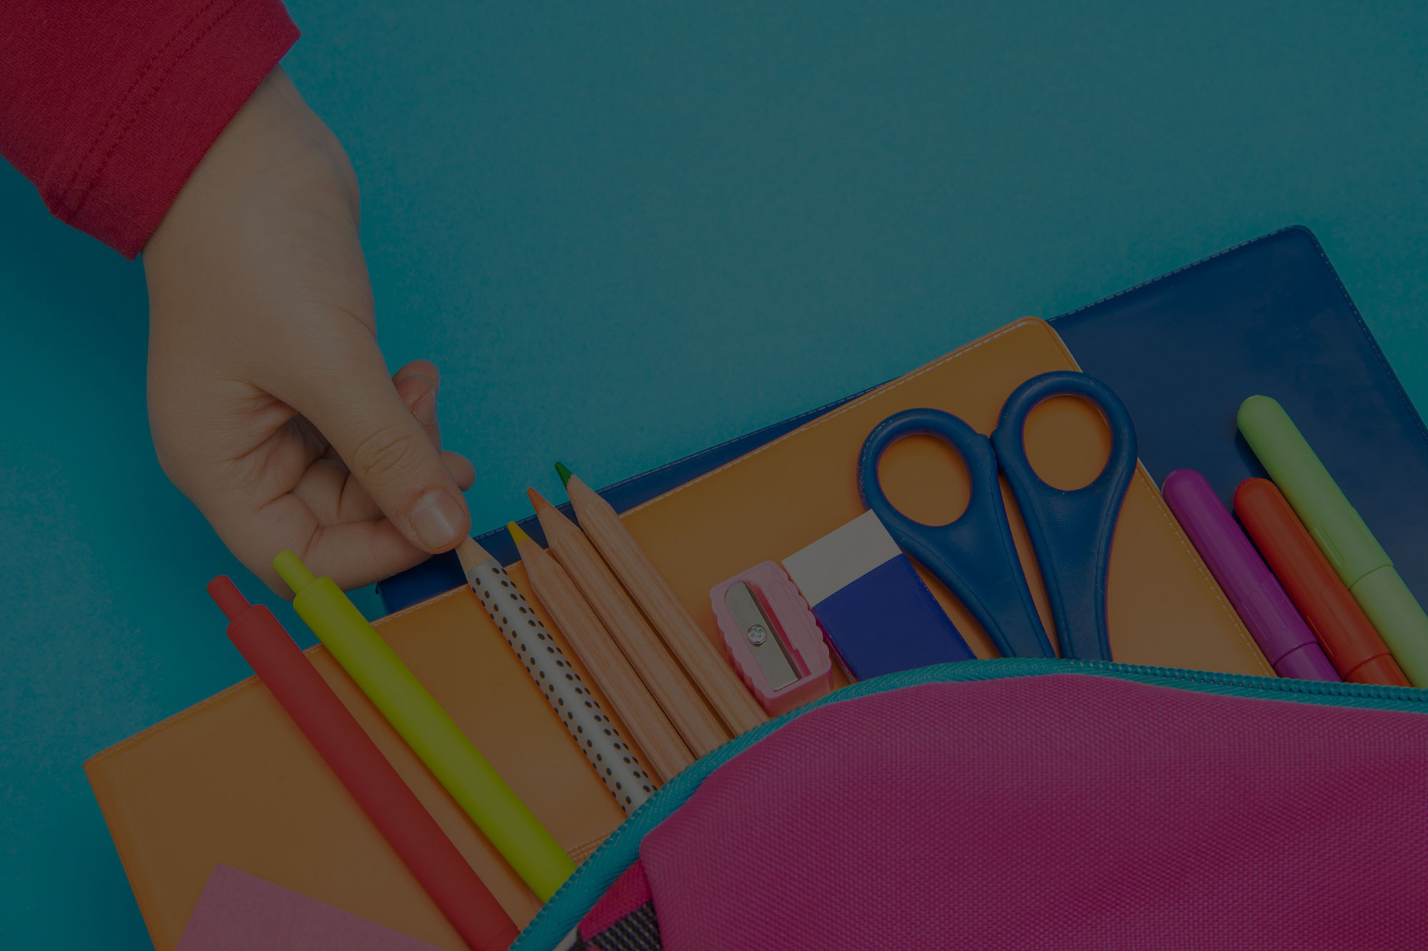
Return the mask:
[[(1057, 396), (1090, 400), (1111, 430), (1111, 458), (1105, 468), (1091, 484), (1070, 491), (1048, 485), (1037, 476), (1027, 460), (1024, 441), (1027, 417), (1040, 403)], [(1111, 660), (1105, 574), (1121, 503), (1135, 474), (1131, 414), (1111, 387), (1095, 377), (1067, 370), (1042, 373), (1007, 397), (991, 444), (1037, 551), (1061, 655)]]

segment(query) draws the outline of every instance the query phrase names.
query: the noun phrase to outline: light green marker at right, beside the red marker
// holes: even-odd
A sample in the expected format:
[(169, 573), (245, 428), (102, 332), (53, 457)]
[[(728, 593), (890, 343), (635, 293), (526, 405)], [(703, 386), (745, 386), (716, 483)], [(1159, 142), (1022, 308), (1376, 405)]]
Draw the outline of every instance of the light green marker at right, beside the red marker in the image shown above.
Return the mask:
[(1240, 404), (1240, 431), (1414, 687), (1428, 687), (1428, 614), (1275, 400)]

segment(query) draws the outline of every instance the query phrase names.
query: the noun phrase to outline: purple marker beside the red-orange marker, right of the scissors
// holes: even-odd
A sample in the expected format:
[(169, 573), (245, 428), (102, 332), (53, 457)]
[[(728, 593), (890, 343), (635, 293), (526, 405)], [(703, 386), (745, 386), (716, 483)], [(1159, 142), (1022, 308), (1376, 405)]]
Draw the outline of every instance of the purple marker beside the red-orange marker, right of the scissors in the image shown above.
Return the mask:
[(1177, 468), (1165, 477), (1161, 493), (1275, 673), (1297, 680), (1341, 680), (1205, 477)]

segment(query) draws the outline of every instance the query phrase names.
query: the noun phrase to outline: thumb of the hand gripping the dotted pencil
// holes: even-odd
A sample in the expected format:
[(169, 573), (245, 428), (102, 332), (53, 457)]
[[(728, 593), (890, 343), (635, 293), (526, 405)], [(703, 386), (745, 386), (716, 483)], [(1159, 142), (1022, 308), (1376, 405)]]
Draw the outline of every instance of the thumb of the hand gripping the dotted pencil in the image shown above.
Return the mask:
[(324, 383), (308, 406), (294, 408), (337, 450), (391, 524), (423, 551), (447, 551), (466, 538), (471, 515), (461, 490), (381, 360)]

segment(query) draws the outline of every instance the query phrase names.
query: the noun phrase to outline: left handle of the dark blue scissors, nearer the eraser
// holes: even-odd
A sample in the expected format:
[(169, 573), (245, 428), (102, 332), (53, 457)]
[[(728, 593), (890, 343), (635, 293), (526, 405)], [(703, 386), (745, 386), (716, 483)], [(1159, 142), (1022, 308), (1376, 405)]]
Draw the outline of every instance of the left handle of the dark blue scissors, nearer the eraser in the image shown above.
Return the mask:
[[(967, 511), (945, 525), (908, 518), (878, 483), (878, 460), (905, 436), (932, 436), (967, 463), (971, 497)], [(1002, 657), (1055, 657), (1027, 588), (1007, 510), (997, 483), (991, 441), (941, 410), (902, 410), (883, 420), (863, 443), (858, 493), (905, 553), (951, 588), (972, 613)]]

